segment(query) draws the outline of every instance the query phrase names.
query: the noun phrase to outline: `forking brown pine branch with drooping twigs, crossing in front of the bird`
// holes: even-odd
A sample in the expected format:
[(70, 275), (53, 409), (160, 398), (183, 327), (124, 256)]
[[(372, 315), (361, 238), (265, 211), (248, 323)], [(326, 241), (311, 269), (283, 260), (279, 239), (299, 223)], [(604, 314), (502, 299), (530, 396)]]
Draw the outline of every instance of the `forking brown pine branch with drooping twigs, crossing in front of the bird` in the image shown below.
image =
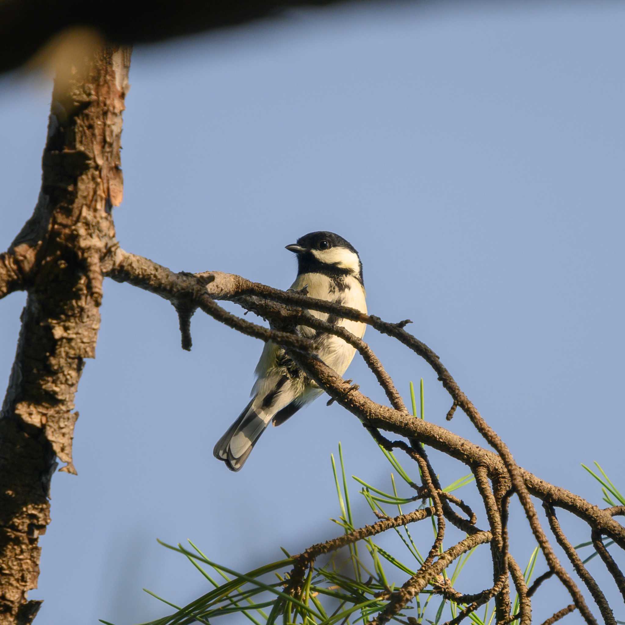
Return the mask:
[[(597, 531), (601, 531), (611, 537), (619, 546), (625, 547), (625, 528), (612, 519), (613, 514), (617, 514), (619, 511), (613, 509), (601, 510), (596, 506), (592, 506), (592, 504), (589, 504), (589, 502), (581, 497), (577, 497), (571, 492), (553, 486), (552, 484), (547, 484), (547, 482), (538, 479), (536, 476), (533, 476), (531, 473), (517, 466), (507, 446), (501, 441), (499, 436), (492, 431), (491, 427), (486, 424), (473, 404), (467, 399), (461, 389), (459, 389), (457, 383), (451, 377), (451, 374), (442, 366), (438, 356), (424, 343), (406, 332), (403, 329), (404, 324), (384, 322), (379, 319), (379, 317), (369, 316), (348, 307), (333, 304), (332, 302), (316, 300), (301, 293), (279, 291), (263, 284), (247, 281), (240, 276), (233, 276), (232, 274), (204, 272), (204, 274), (197, 274), (196, 282), (194, 282), (189, 276), (173, 274), (169, 272), (168, 269), (156, 263), (121, 250), (118, 252), (114, 267), (109, 270), (109, 273), (118, 281), (129, 281), (136, 286), (140, 286), (162, 297), (166, 297), (166, 299), (176, 299), (182, 294), (186, 294), (186, 296), (192, 298), (193, 302), (197, 302), (202, 309), (206, 309), (206, 312), (209, 312), (209, 314), (215, 318), (251, 336), (261, 337), (263, 332), (269, 333), (265, 334), (265, 336), (271, 337), (271, 340), (285, 347), (296, 364), (329, 394), (331, 401), (339, 402), (341, 406), (346, 407), (346, 409), (359, 417), (369, 431), (377, 432), (379, 428), (382, 428), (408, 437), (412, 441), (412, 447), (408, 447), (404, 444), (404, 451), (409, 449), (411, 457), (419, 462), (424, 479), (424, 486), (427, 489), (427, 491), (423, 492), (427, 492), (432, 496), (434, 509), (437, 511), (439, 534), (442, 534), (442, 530), (444, 529), (445, 518), (452, 521), (458, 527), (466, 528), (466, 531), (471, 533), (472, 536), (477, 536), (478, 534), (482, 535), (482, 531), (472, 526), (471, 522), (462, 519), (456, 512), (452, 511), (448, 499), (440, 494), (440, 486), (437, 484), (437, 481), (435, 481), (435, 474), (431, 467), (429, 467), (427, 456), (419, 452), (419, 450), (422, 449), (421, 444), (427, 444), (435, 449), (446, 452), (449, 456), (456, 457), (472, 467), (474, 471), (478, 470), (480, 474), (478, 486), (480, 487), (481, 484), (482, 499), (486, 501), (487, 512), (491, 517), (489, 522), (491, 522), (491, 527), (495, 528), (496, 558), (501, 562), (501, 569), (495, 571), (494, 574), (493, 587), (497, 586), (499, 580), (504, 577), (503, 572), (507, 570), (507, 504), (512, 492), (516, 492), (526, 512), (532, 532), (539, 546), (541, 546), (551, 571), (554, 572), (564, 586), (567, 587), (571, 596), (574, 598), (576, 606), (586, 619), (586, 622), (595, 622), (585, 606), (581, 592), (579, 592), (574, 581), (572, 581), (569, 574), (567, 574), (566, 570), (561, 566), (549, 545), (549, 541), (542, 531), (536, 510), (530, 499), (530, 494), (539, 497), (543, 501), (549, 501), (553, 505), (563, 507), (573, 512), (589, 523), (591, 527), (596, 528)], [(200, 279), (210, 279), (204, 291), (201, 290), (204, 287), (197, 282)], [(200, 289), (200, 291), (197, 289)], [(238, 317), (227, 317), (229, 313), (220, 309), (213, 301), (214, 299), (236, 301), (247, 309), (257, 312), (257, 314), (261, 314), (261, 316), (269, 319), (272, 326), (284, 327), (287, 331), (279, 334), (277, 330), (272, 329), (269, 331), (260, 326), (255, 326), (254, 324), (246, 326)], [(497, 454), (482, 449), (442, 427), (410, 417), (405, 410), (401, 397), (399, 397), (394, 385), (392, 385), (392, 381), (387, 376), (374, 354), (372, 354), (369, 347), (362, 341), (359, 341), (359, 339), (356, 339), (356, 337), (350, 336), (348, 332), (344, 332), (342, 329), (325, 326), (324, 322), (310, 316), (306, 312), (307, 310), (327, 312), (328, 314), (334, 314), (335, 316), (346, 319), (365, 322), (383, 334), (395, 337), (419, 354), (419, 356), (426, 359), (434, 371), (436, 371), (443, 386), (451, 395), (453, 403), (456, 406), (460, 406), (462, 411), (469, 416), (469, 419), (471, 419), (482, 436), (495, 447)], [(337, 376), (334, 371), (318, 358), (307, 355), (304, 350), (309, 348), (308, 345), (298, 344), (297, 347), (294, 348), (293, 337), (296, 335), (293, 334), (292, 328), (296, 325), (308, 325), (310, 327), (317, 327), (322, 331), (333, 332), (337, 334), (337, 336), (342, 336), (344, 340), (356, 347), (367, 359), (367, 364), (369, 364), (372, 371), (376, 374), (378, 381), (384, 387), (387, 397), (389, 397), (395, 409), (381, 406), (371, 401), (371, 399), (357, 390), (357, 385), (350, 385), (340, 376)], [(299, 351), (294, 351), (294, 349), (298, 349)], [(391, 445), (400, 446), (400, 444), (401, 441), (393, 442)], [(479, 467), (479, 469), (477, 469), (477, 467)], [(496, 486), (496, 493), (494, 495), (490, 492), (489, 487), (487, 490), (484, 489), (484, 484), (487, 486), (488, 478), (492, 479), (493, 485)], [(512, 489), (510, 488), (510, 482), (512, 483)], [(474, 522), (475, 519), (472, 512), (467, 512), (467, 514), (471, 515), (469, 521)], [(432, 566), (440, 561), (439, 559), (434, 562), (437, 549), (438, 545), (435, 543), (426, 561), (426, 567), (424, 567), (424, 571), (419, 572), (419, 576), (425, 574), (425, 571), (429, 571)], [(533, 586), (531, 590), (524, 589), (524, 587), (521, 586), (521, 581), (518, 576), (516, 576), (516, 583), (517, 587), (521, 588), (519, 594), (522, 594), (524, 601), (521, 617), (524, 622), (527, 622), (527, 618), (529, 618), (526, 616), (526, 614), (529, 614), (529, 597), (531, 597), (532, 591), (535, 591), (537, 586)], [(501, 612), (498, 614), (498, 618), (501, 617), (501, 619), (504, 619), (503, 611), (505, 611), (506, 608), (509, 611), (509, 598), (506, 599), (506, 597), (509, 597), (509, 591), (505, 581), (502, 583), (501, 589), (497, 594), (501, 595), (502, 600)], [(405, 598), (406, 593), (402, 596)], [(384, 612), (384, 614), (387, 612), (389, 611)]]

